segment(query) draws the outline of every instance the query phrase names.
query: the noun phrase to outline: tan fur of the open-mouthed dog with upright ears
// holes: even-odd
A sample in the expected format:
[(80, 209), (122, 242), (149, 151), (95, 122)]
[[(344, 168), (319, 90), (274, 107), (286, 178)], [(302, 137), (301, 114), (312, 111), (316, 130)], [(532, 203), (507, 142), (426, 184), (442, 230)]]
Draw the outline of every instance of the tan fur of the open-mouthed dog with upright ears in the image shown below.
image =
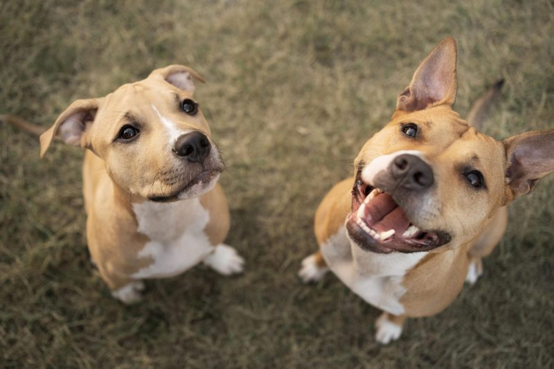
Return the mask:
[[(497, 84), (479, 99), (470, 114), (471, 123), (481, 124), (498, 93)], [(419, 228), (448, 231), (452, 240), (431, 249), (404, 275), (406, 291), (400, 298), (404, 314), (386, 315), (398, 325), (408, 316), (433, 315), (452, 303), (470, 262), (480, 273), (481, 258), (500, 241), (508, 221), (506, 205), (530, 192), (539, 178), (554, 170), (554, 130), (528, 132), (499, 142), (461, 119), (452, 109), (455, 98), (456, 44), (447, 38), (431, 51), (400, 93), (391, 122), (366, 142), (355, 159), (356, 174), (377, 157), (416, 150), (431, 165), (434, 183), (440, 183), (427, 199), (425, 210), (414, 206), (414, 201), (402, 206)], [(417, 138), (400, 132), (406, 123), (420, 128)], [(485, 190), (469, 186), (462, 175), (464, 166), (484, 174)], [(350, 213), (353, 182), (349, 178), (337, 183), (316, 211), (320, 246), (337, 234)], [(321, 252), (316, 255), (321, 257)]]

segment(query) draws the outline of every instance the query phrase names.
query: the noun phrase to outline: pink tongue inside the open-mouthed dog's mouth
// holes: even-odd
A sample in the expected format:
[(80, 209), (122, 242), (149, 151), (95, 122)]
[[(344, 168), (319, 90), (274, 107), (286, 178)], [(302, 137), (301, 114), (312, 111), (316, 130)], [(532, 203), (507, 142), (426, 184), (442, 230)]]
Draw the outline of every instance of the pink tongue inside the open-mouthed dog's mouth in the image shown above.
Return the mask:
[(395, 235), (402, 235), (410, 225), (409, 219), (391, 195), (377, 195), (366, 205), (368, 224), (377, 231), (395, 230)]

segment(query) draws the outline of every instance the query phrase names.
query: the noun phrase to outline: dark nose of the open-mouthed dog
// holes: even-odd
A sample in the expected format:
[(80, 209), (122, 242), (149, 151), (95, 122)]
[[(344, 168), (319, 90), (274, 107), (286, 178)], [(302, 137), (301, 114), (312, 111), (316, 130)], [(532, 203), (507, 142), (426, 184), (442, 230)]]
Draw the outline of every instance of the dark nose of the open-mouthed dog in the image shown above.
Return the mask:
[(429, 164), (418, 156), (402, 154), (395, 157), (391, 172), (398, 186), (409, 190), (425, 190), (433, 185), (435, 179)]

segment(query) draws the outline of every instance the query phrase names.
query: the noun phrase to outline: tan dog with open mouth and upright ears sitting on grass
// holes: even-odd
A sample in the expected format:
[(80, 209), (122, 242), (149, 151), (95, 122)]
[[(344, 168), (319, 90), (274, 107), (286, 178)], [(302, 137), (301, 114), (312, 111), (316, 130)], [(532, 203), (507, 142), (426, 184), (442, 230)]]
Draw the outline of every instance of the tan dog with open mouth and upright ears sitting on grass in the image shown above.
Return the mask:
[(447, 38), (362, 147), (355, 177), (316, 212), (320, 251), (299, 275), (307, 282), (331, 270), (382, 309), (381, 343), (400, 336), (406, 317), (437, 314), (464, 280), (475, 282), (506, 229), (506, 205), (554, 170), (554, 130), (495, 141), (458, 116), (455, 98), (456, 43)]

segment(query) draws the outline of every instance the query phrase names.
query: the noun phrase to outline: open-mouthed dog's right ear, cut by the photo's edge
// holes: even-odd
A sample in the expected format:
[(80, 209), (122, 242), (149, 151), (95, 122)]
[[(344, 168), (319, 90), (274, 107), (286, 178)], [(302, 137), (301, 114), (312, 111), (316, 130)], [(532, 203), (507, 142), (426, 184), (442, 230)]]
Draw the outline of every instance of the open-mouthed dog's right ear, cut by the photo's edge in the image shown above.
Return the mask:
[(518, 134), (503, 141), (506, 177), (515, 197), (533, 190), (546, 174), (554, 172), (554, 129)]

